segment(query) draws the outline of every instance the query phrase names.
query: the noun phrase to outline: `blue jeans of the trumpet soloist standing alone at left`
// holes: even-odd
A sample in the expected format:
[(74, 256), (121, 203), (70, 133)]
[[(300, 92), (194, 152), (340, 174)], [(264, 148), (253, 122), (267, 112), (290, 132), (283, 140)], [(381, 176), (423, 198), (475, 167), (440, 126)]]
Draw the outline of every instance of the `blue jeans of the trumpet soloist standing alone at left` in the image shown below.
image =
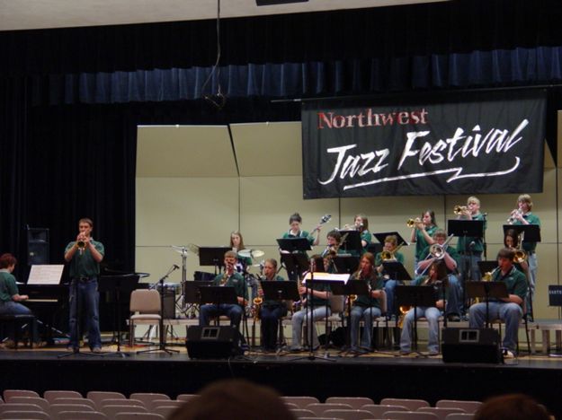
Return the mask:
[(100, 334), (100, 293), (98, 293), (97, 278), (88, 280), (73, 279), (70, 284), (69, 293), (70, 306), (70, 341), (68, 346), (78, 347), (79, 331), (77, 320), (81, 314), (85, 314), (85, 329), (88, 331), (88, 346), (94, 349), (102, 346), (102, 335)]

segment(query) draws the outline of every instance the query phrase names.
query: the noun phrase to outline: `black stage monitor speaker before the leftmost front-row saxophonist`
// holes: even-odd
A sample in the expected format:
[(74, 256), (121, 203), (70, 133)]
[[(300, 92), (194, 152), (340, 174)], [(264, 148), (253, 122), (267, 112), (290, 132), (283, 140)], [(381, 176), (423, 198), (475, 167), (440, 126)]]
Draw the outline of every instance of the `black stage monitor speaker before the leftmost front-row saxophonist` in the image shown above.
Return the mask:
[(232, 326), (187, 328), (185, 346), (191, 359), (227, 359), (243, 354), (240, 348), (242, 336)]

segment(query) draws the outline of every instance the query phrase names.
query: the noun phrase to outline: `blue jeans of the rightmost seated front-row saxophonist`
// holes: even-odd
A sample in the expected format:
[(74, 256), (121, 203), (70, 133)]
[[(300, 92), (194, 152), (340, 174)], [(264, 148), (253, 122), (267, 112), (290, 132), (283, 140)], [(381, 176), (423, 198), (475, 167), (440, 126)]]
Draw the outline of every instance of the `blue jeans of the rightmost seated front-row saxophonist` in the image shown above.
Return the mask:
[[(513, 302), (489, 302), (489, 319), (502, 319), (505, 322), (504, 347), (512, 350), (517, 348), (517, 332), (523, 311), (521, 306)], [(470, 307), (470, 328), (483, 328), (486, 323), (486, 302), (476, 303)]]

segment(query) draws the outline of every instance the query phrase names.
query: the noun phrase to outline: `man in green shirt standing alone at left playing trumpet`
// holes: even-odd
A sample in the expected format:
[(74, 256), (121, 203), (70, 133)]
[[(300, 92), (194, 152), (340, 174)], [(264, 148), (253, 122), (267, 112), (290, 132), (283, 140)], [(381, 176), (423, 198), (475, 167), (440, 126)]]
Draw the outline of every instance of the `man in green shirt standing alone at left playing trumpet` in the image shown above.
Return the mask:
[(91, 219), (80, 219), (78, 236), (65, 249), (65, 260), (70, 263), (69, 305), (70, 305), (70, 342), (68, 350), (78, 351), (78, 319), (80, 311), (85, 314), (88, 331), (88, 346), (94, 353), (102, 352), (100, 334), (98, 276), (102, 262), (103, 243), (94, 241), (91, 233), (94, 223)]

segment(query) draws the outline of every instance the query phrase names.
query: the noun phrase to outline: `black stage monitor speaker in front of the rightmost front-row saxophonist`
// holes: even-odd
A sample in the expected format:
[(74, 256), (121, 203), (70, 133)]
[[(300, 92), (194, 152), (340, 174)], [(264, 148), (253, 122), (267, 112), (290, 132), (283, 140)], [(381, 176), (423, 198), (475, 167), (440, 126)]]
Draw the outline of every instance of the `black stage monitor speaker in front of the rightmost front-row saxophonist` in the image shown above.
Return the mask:
[(494, 328), (444, 328), (445, 363), (501, 363), (500, 335)]

